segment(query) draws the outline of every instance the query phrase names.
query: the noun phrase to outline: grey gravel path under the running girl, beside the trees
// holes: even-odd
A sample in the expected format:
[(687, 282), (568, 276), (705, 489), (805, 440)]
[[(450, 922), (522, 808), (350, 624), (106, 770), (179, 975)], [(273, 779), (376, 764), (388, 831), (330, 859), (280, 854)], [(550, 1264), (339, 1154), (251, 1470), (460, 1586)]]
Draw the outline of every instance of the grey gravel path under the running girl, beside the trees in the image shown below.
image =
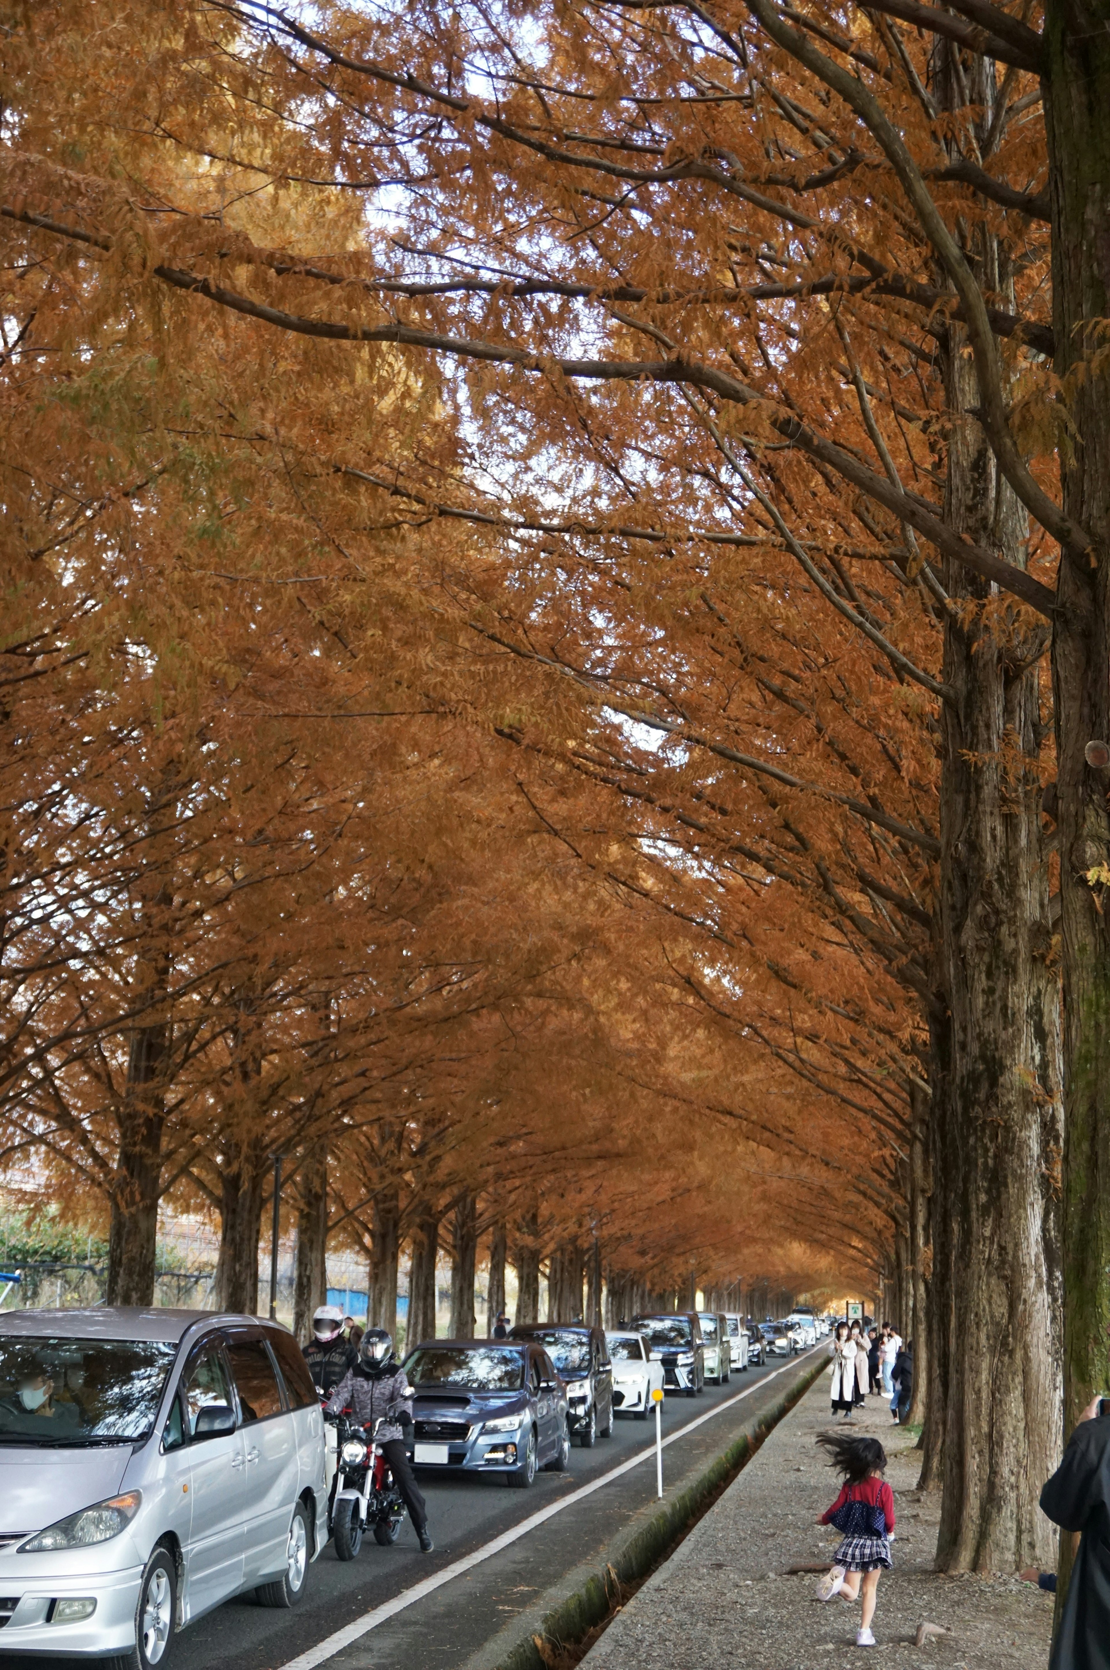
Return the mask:
[[(913, 1436), (868, 1398), (855, 1430), (890, 1456), (898, 1530), (895, 1570), (878, 1585), (876, 1648), (856, 1647), (860, 1607), (820, 1605), (818, 1575), (791, 1565), (830, 1560), (836, 1531), (816, 1525), (838, 1481), (815, 1436), (831, 1425), (828, 1376), (769, 1435), (704, 1520), (616, 1615), (584, 1670), (816, 1670), (823, 1665), (936, 1665), (938, 1670), (1043, 1670), (1053, 1597), (1012, 1576), (941, 1576), (931, 1570), (940, 1500), (918, 1495)], [(923, 1622), (948, 1630), (926, 1645)]]

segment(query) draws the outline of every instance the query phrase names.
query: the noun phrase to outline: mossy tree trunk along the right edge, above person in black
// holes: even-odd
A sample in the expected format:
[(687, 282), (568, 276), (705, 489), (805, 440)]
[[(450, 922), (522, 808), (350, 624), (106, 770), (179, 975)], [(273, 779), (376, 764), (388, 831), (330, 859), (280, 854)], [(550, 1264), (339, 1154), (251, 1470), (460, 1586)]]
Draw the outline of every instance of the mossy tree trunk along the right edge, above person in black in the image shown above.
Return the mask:
[[(1065, 1086), (1065, 1435), (1110, 1381), (1110, 377), (1077, 377), (1110, 317), (1110, 3), (1047, 0), (1045, 129), (1057, 376), (1077, 441), (1060, 453), (1063, 509), (1090, 548), (1065, 549), (1053, 618)], [(1083, 543), (1083, 541), (1080, 541)], [(1068, 1545), (1065, 1548), (1065, 1545)], [(1062, 1538), (1058, 1605), (1070, 1570)]]

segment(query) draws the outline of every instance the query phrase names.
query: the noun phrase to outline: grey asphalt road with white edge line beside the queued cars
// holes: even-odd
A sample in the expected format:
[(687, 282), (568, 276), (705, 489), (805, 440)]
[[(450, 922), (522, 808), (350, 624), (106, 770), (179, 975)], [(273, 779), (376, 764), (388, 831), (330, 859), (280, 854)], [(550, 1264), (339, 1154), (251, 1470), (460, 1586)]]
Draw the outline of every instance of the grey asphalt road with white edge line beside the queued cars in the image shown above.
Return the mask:
[[(736, 1398), (736, 1393), (753, 1388), (751, 1396), (721, 1409), (711, 1421), (664, 1450), (664, 1478), (678, 1480), (701, 1460), (709, 1461), (719, 1455), (733, 1433), (751, 1421), (761, 1406), (781, 1396), (795, 1373), (803, 1371), (808, 1363), (808, 1354), (796, 1363), (771, 1358), (764, 1369), (734, 1373), (726, 1386), (706, 1384), (699, 1398), (668, 1398), (663, 1411), (664, 1438), (668, 1431), (686, 1426), (716, 1404)], [(786, 1373), (778, 1374), (763, 1391), (759, 1383), (783, 1368)], [(499, 1478), (444, 1478), (422, 1468), (417, 1476), (427, 1498), (434, 1553), (421, 1553), (407, 1520), (392, 1548), (379, 1548), (367, 1538), (359, 1556), (346, 1565), (336, 1558), (329, 1543), (310, 1566), (307, 1593), (295, 1612), (270, 1612), (255, 1605), (252, 1597), (227, 1602), (174, 1640), (167, 1670), (280, 1670), (362, 1613), (474, 1553), (561, 1496), (631, 1460), (653, 1441), (654, 1421), (618, 1418), (611, 1438), (599, 1438), (593, 1450), (576, 1445), (569, 1471), (541, 1471), (531, 1490), (507, 1490)], [(329, 1657), (329, 1670), (354, 1670), (371, 1663), (374, 1670), (457, 1670), (514, 1613), (534, 1605), (544, 1588), (588, 1558), (591, 1550), (603, 1548), (628, 1516), (653, 1496), (654, 1465), (643, 1463)], [(48, 1662), (52, 1660), (17, 1658), (0, 1652), (0, 1670), (43, 1670)]]

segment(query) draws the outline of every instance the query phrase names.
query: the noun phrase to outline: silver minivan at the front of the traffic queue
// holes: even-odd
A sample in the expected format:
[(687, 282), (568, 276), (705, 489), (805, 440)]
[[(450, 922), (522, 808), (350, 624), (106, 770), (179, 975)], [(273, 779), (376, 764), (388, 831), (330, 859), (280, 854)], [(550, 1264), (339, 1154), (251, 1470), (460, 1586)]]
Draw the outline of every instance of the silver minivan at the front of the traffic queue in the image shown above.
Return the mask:
[(324, 1418), (284, 1328), (0, 1318), (0, 1653), (165, 1667), (230, 1595), (295, 1607), (325, 1540)]

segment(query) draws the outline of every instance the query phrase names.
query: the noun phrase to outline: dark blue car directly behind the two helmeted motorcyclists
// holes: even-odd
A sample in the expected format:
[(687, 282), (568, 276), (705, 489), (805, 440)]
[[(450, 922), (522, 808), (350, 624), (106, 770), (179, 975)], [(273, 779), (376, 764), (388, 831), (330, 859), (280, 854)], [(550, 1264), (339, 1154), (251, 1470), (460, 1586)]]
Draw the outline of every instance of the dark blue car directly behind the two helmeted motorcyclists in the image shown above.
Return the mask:
[(547, 1353), (516, 1339), (429, 1339), (404, 1359), (414, 1388), (412, 1463), (501, 1473), (526, 1488), (571, 1460), (566, 1388)]

